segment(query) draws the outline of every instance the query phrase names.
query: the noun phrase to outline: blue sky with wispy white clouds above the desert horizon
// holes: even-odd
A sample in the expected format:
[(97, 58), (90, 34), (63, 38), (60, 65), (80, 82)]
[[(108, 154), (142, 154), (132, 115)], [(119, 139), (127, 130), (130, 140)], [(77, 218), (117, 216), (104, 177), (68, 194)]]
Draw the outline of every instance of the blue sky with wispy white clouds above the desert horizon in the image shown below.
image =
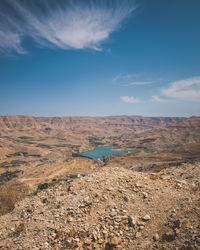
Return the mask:
[(199, 0), (1, 0), (0, 115), (199, 116)]

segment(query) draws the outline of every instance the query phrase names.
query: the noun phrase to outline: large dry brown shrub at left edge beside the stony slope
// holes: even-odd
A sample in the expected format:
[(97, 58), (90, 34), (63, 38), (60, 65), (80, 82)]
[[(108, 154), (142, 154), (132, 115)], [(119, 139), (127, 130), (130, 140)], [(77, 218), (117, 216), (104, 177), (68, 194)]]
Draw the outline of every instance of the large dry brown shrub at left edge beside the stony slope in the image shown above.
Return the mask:
[(0, 186), (0, 216), (11, 212), (17, 201), (22, 200), (28, 193), (27, 186), (12, 182)]

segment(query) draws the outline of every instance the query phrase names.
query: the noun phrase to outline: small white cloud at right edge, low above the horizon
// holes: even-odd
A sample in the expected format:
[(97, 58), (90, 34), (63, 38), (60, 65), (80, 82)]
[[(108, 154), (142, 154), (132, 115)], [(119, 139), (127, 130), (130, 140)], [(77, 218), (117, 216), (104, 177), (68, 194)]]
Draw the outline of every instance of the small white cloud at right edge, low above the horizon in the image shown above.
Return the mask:
[(200, 76), (172, 82), (161, 93), (177, 100), (200, 102)]

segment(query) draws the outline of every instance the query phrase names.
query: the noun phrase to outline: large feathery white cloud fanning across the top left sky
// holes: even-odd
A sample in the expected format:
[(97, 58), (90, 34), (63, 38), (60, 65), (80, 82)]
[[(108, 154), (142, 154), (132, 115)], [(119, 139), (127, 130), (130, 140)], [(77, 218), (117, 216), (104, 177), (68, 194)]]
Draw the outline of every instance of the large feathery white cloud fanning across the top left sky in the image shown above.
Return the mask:
[(24, 53), (23, 39), (61, 49), (101, 50), (136, 8), (130, 0), (2, 0), (0, 51)]

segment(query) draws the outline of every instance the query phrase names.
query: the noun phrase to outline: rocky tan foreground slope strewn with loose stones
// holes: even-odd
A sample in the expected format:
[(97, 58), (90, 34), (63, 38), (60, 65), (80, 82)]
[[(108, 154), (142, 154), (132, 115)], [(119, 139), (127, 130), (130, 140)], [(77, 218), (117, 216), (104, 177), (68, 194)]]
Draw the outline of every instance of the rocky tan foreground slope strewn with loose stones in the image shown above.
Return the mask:
[(0, 249), (200, 249), (199, 168), (66, 178), (0, 218)]

